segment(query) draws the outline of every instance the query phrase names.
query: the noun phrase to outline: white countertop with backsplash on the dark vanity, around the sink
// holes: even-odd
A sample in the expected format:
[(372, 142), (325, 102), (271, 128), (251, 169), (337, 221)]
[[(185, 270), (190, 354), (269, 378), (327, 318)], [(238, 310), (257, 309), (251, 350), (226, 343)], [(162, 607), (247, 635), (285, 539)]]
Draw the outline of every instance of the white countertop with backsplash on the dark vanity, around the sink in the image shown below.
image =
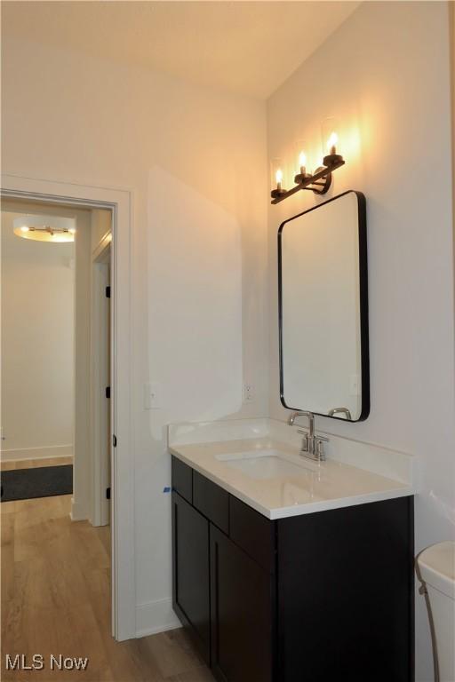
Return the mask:
[[(299, 455), (296, 428), (275, 420), (172, 424), (168, 432), (172, 455), (267, 519), (414, 494), (410, 455), (337, 436), (330, 439), (327, 459), (319, 464)], [(217, 458), (255, 449), (279, 449), (287, 461), (301, 466), (301, 474), (257, 480)]]

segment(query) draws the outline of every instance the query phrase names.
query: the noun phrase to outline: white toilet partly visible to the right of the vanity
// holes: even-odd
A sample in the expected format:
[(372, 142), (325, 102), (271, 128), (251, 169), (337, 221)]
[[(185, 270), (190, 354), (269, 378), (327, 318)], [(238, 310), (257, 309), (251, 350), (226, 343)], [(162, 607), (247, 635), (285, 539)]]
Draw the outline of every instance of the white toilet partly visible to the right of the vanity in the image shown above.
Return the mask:
[(439, 682), (455, 682), (455, 543), (434, 544), (417, 557), (416, 572), (427, 599)]

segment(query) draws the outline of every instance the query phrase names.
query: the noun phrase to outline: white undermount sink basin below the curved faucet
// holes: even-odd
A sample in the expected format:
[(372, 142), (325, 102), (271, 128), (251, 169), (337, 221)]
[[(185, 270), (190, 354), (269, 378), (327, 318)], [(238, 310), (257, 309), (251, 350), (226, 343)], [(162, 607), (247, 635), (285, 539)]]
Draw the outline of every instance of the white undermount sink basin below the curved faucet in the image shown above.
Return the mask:
[(243, 472), (251, 479), (266, 480), (283, 476), (302, 476), (310, 467), (290, 462), (279, 450), (249, 450), (228, 455), (217, 455), (223, 464)]

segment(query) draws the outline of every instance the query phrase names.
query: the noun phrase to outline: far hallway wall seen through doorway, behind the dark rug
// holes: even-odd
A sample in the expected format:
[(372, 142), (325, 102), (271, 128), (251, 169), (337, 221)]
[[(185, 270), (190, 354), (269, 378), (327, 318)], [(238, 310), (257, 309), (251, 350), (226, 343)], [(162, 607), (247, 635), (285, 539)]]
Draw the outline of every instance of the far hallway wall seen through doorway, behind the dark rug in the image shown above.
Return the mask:
[(13, 234), (2, 211), (2, 459), (73, 448), (74, 244)]

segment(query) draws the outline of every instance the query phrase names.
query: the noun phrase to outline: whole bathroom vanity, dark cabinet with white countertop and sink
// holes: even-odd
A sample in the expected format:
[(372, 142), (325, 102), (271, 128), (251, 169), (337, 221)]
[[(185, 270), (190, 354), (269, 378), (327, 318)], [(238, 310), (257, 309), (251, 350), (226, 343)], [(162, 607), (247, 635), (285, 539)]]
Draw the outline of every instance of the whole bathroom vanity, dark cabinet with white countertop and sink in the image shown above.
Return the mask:
[[(411, 682), (410, 480), (330, 458), (300, 463), (290, 427), (256, 422), (238, 440), (210, 426), (170, 432), (180, 621), (223, 682)], [(355, 462), (334, 440), (329, 450)], [(390, 451), (380, 464), (362, 448), (371, 468), (392, 473)], [(397, 455), (403, 479), (411, 463)]]

